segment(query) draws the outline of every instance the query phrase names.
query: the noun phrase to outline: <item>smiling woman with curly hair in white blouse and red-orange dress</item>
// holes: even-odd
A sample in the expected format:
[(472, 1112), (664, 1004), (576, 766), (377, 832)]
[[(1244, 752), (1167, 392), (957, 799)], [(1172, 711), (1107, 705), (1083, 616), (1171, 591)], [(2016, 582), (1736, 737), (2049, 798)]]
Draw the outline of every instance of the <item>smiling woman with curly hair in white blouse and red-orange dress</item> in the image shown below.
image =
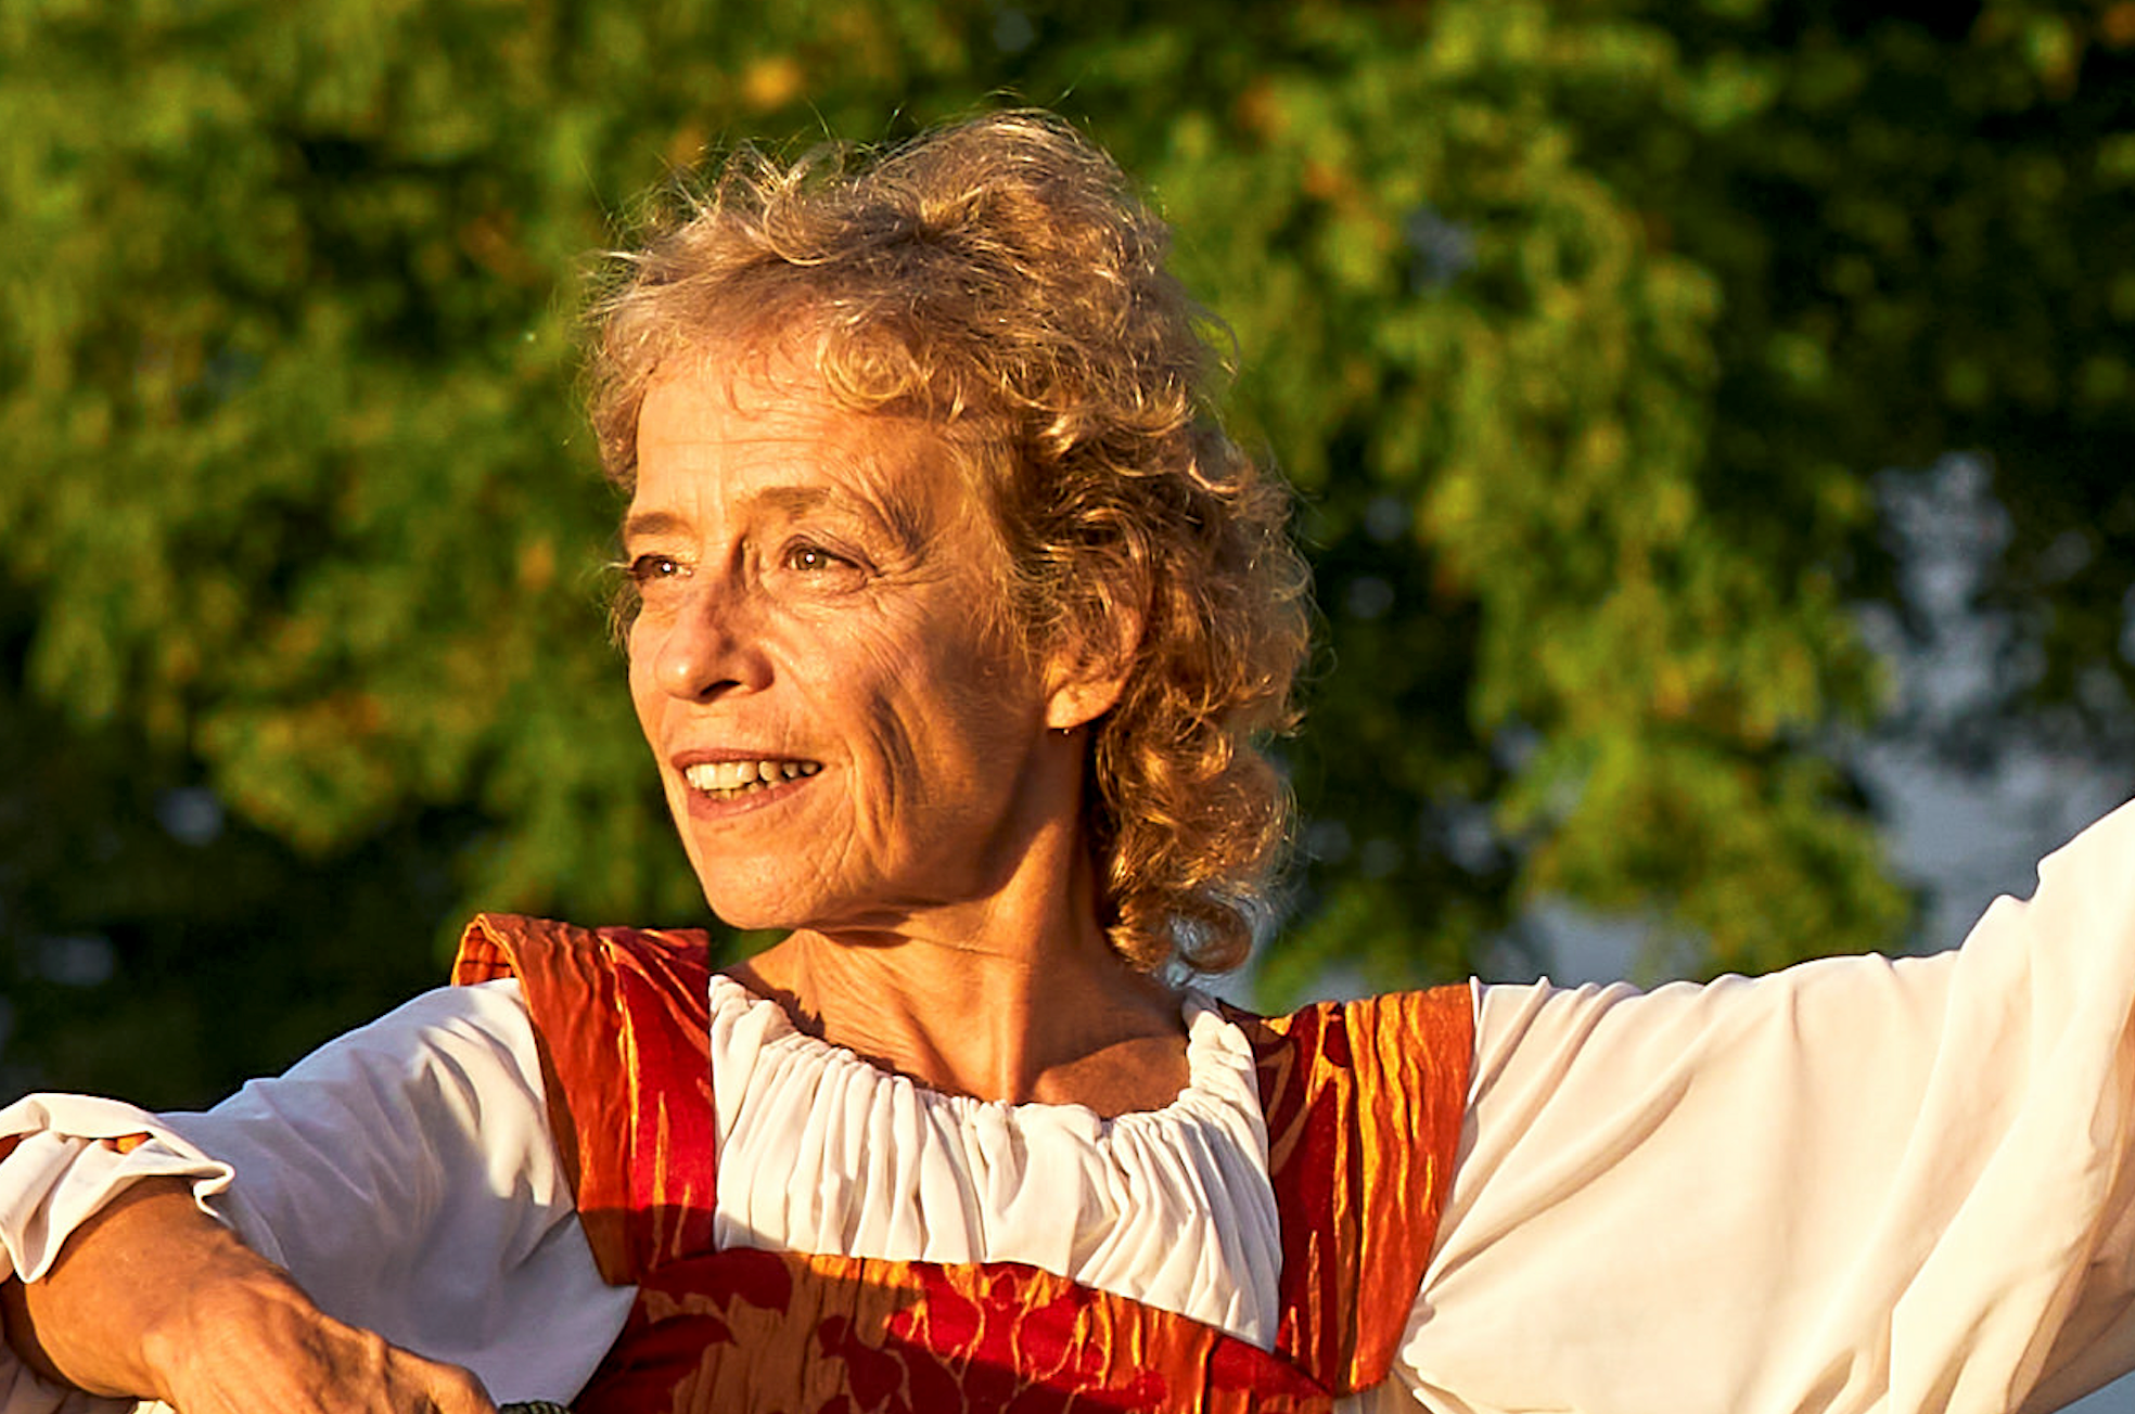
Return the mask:
[[(487, 915), (201, 1115), (0, 1115), (4, 1408), (2003, 1410), (2135, 1363), (2135, 819), (1962, 953), (1172, 985), (1304, 644), (1119, 171), (743, 158), (600, 307), (630, 689), (711, 909)], [(472, 1371), (472, 1373), (470, 1373)]]

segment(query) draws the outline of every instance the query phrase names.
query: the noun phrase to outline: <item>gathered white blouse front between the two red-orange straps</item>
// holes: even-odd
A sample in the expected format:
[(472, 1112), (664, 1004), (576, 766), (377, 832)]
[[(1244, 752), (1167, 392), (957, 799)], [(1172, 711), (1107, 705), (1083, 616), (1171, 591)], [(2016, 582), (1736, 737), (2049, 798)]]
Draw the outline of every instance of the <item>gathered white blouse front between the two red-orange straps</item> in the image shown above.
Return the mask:
[(1281, 1235), (1253, 1051), (1189, 992), (1187, 1086), (1149, 1111), (931, 1090), (711, 981), (719, 1246), (1027, 1263), (1268, 1348)]

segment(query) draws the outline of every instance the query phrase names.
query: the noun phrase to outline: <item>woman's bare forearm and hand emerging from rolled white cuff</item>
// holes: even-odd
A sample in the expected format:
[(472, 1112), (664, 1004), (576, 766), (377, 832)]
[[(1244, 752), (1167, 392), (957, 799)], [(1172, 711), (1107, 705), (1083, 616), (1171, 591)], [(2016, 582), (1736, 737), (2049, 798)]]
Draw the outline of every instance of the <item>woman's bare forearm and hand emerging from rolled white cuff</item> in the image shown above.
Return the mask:
[(463, 1369), (346, 1327), (220, 1222), (184, 1179), (135, 1184), (83, 1222), (38, 1282), (9, 1280), (15, 1352), (92, 1395), (154, 1397), (186, 1414), (493, 1414)]

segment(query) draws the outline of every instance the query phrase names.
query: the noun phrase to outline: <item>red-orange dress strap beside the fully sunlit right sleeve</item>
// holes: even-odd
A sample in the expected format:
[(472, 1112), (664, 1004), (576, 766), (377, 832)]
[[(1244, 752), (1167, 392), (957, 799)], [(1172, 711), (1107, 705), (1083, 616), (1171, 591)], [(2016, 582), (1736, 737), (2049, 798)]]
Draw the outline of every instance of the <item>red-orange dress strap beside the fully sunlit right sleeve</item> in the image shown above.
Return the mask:
[(1253, 1039), (1283, 1216), (1277, 1350), (1337, 1391), (1386, 1378), (1430, 1260), (1467, 1109), (1469, 990), (1234, 1013)]

